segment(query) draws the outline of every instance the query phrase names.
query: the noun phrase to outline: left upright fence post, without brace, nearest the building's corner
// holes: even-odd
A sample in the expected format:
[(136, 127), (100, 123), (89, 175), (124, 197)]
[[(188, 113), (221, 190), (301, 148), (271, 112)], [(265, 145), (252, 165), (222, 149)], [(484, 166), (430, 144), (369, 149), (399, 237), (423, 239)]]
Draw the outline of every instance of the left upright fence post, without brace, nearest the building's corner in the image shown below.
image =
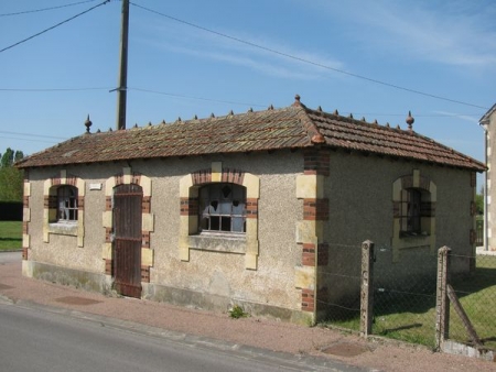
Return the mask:
[(371, 333), (374, 319), (374, 242), (362, 243), (360, 336)]

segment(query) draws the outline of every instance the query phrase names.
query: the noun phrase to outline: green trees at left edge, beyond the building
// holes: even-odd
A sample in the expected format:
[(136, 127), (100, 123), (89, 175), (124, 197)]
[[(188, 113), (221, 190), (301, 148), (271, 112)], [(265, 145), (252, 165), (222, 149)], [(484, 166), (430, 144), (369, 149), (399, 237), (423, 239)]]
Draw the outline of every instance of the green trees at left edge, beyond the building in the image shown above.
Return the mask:
[(0, 160), (0, 201), (22, 201), (24, 174), (14, 162), (24, 157), (22, 151), (7, 149)]

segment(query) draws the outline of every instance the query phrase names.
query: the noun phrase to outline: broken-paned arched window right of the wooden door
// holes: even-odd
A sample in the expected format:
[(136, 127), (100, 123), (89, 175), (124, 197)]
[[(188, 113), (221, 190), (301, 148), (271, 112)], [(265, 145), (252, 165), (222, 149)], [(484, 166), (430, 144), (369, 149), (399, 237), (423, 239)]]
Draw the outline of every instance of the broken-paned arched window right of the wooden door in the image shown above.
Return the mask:
[(200, 232), (246, 232), (246, 188), (216, 183), (200, 189)]

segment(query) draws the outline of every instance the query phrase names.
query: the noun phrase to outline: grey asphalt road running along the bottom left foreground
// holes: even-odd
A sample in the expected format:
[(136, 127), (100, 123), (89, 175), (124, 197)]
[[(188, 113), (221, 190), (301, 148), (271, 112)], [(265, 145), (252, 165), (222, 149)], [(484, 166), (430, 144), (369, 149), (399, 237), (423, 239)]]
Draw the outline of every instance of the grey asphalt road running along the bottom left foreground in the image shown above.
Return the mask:
[[(315, 362), (315, 363), (314, 363)], [(291, 354), (247, 353), (0, 299), (0, 370), (359, 371)]]

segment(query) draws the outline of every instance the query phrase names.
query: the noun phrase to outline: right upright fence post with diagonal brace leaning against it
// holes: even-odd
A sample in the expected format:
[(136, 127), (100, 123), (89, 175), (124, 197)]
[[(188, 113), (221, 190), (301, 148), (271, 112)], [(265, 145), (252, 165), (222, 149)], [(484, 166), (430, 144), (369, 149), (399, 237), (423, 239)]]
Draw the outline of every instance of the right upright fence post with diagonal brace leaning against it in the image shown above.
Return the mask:
[(442, 247), (438, 251), (438, 288), (435, 294), (435, 348), (442, 349), (444, 340), (450, 333), (450, 300), (448, 284), (450, 275), (451, 249)]

